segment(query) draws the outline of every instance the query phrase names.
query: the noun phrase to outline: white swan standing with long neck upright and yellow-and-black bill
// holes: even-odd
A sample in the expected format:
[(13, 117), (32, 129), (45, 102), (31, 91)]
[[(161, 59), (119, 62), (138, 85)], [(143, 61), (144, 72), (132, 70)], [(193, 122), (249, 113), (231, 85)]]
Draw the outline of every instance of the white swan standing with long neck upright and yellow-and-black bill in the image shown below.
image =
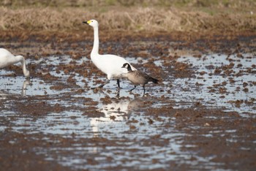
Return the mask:
[[(97, 20), (88, 20), (83, 21), (83, 23), (88, 24), (89, 26), (94, 28), (94, 45), (91, 50), (91, 61), (99, 70), (104, 72), (107, 75), (108, 80), (100, 85), (98, 88), (102, 88), (107, 83), (110, 82), (110, 80), (114, 77), (117, 79), (117, 86), (120, 88), (120, 78), (123, 77), (122, 73), (124, 73), (124, 69), (121, 68), (121, 66), (124, 63), (129, 64), (127, 60), (120, 56), (116, 55), (100, 55), (99, 54), (99, 23)], [(130, 64), (129, 64), (130, 65)], [(131, 66), (131, 65), (130, 65)], [(132, 70), (137, 70), (135, 67), (131, 66)]]

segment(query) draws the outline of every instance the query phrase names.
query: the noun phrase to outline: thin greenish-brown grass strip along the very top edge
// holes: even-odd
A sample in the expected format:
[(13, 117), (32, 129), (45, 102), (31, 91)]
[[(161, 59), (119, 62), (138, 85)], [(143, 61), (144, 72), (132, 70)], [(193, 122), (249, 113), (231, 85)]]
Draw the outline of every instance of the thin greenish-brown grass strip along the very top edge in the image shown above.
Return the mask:
[(231, 7), (253, 9), (255, 0), (2, 0), (0, 6), (20, 7)]

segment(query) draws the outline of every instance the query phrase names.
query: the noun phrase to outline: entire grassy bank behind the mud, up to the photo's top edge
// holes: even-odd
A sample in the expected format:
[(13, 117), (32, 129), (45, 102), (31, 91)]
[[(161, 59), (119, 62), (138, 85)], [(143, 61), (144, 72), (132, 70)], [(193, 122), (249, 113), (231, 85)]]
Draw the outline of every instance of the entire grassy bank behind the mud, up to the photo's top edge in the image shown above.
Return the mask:
[(108, 31), (255, 31), (256, 2), (184, 1), (1, 1), (0, 31), (87, 31), (99, 20)]

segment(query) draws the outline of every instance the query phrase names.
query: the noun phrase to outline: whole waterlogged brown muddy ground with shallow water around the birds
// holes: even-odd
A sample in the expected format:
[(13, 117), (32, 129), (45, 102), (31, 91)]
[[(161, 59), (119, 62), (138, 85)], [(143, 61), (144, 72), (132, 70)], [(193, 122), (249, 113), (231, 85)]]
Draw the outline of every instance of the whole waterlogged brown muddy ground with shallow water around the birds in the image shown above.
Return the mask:
[(1, 42), (31, 50), (32, 76), (19, 66), (0, 71), (1, 168), (256, 168), (255, 37), (102, 41), (102, 53), (127, 56), (161, 80), (146, 85), (145, 96), (141, 87), (130, 93), (127, 80), (120, 90), (115, 80), (92, 90), (105, 75), (91, 64), (88, 39), (52, 44), (44, 55), (44, 45)]

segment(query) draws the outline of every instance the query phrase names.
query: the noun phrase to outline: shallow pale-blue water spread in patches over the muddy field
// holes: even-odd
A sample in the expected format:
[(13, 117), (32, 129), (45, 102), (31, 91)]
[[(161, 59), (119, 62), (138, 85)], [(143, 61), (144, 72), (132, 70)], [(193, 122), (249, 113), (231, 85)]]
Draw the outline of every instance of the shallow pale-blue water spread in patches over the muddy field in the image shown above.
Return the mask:
[[(100, 170), (108, 167), (132, 167), (134, 169), (159, 169), (170, 167), (170, 161), (176, 164), (191, 164), (192, 169), (216, 170), (222, 168), (225, 163), (212, 161), (215, 156), (203, 157), (197, 153), (183, 151), (181, 144), (184, 137), (189, 136), (187, 132), (180, 132), (176, 129), (176, 118), (172, 115), (148, 115), (152, 108), (161, 108), (171, 105), (174, 109), (184, 109), (200, 103), (209, 110), (220, 109), (232, 111), (241, 117), (255, 118), (255, 96), (256, 88), (254, 83), (256, 77), (246, 69), (256, 64), (255, 54), (243, 54), (244, 58), (237, 56), (226, 56), (224, 54), (205, 55), (202, 58), (182, 56), (178, 61), (185, 64), (192, 64), (191, 69), (195, 75), (189, 78), (175, 78), (169, 75), (162, 84), (147, 85), (146, 96), (142, 96), (143, 89), (138, 87), (129, 93), (132, 85), (127, 80), (121, 82), (123, 87), (116, 90), (116, 81), (111, 81), (103, 91), (94, 92), (89, 89), (78, 93), (88, 83), (89, 87), (94, 86), (94, 80), (84, 78), (76, 73), (65, 74), (56, 72), (56, 66), (69, 64), (69, 56), (50, 56), (38, 61), (29, 63), (40, 64), (35, 72), (42, 72), (44, 67), (51, 66), (50, 75), (60, 77), (55, 84), (67, 82), (70, 74), (78, 87), (53, 89), (48, 81), (40, 77), (32, 77), (26, 80), (23, 76), (6, 77), (12, 72), (1, 69), (1, 114), (0, 121), (8, 121), (7, 125), (0, 126), (0, 132), (11, 129), (12, 132), (26, 134), (42, 134), (46, 142), (54, 142), (49, 135), (58, 135), (64, 138), (72, 138), (77, 142), (67, 146), (56, 146), (48, 148), (34, 148), (37, 154), (45, 156), (45, 160), (57, 161), (59, 164), (75, 169)], [(131, 63), (140, 60), (146, 63), (143, 58), (127, 58)], [(232, 59), (232, 61), (230, 61)], [(76, 60), (77, 64), (88, 61), (87, 58)], [(229, 75), (214, 74), (216, 67), (234, 64)], [(163, 61), (157, 58), (154, 64), (162, 66)], [(242, 64), (242, 66), (239, 66)], [(211, 65), (216, 66), (211, 68)], [(165, 71), (165, 66), (162, 66)], [(255, 72), (254, 68), (252, 72)], [(202, 74), (203, 73), (203, 74)], [(240, 75), (236, 75), (241, 73)], [(230, 81), (232, 77), (233, 81)], [(102, 78), (104, 79), (104, 78)], [(86, 83), (82, 80), (86, 80)], [(244, 83), (248, 86), (244, 87)], [(172, 85), (172, 86), (170, 86)], [(196, 86), (200, 85), (200, 86)], [(214, 85), (217, 86), (214, 89)], [(209, 88), (210, 87), (210, 88)], [(219, 87), (225, 88), (225, 93), (219, 94)], [(248, 88), (244, 91), (244, 88)], [(210, 91), (213, 89), (213, 91)], [(103, 99), (110, 99), (105, 102)], [(22, 113), (15, 108), (16, 100), (24, 104), (29, 102), (45, 102), (54, 106), (58, 104), (64, 107), (61, 112), (47, 111), (44, 115), (34, 117)], [(236, 107), (233, 102), (243, 100), (250, 104), (241, 103)], [(98, 113), (94, 114), (97, 111)], [(167, 127), (166, 127), (167, 126)], [(199, 129), (194, 127), (192, 129)], [(226, 130), (223, 134), (234, 134), (236, 130)], [(205, 137), (213, 137), (217, 132), (211, 131), (203, 134)], [(113, 141), (113, 145), (97, 145), (94, 142), (86, 142), (90, 138), (102, 138)], [(147, 144), (156, 138), (159, 142), (156, 145)], [(84, 142), (79, 140), (84, 139)], [(236, 136), (231, 136), (227, 141), (236, 142)], [(10, 143), (15, 144), (15, 140)], [(54, 142), (55, 143), (55, 142)], [(255, 144), (255, 142), (253, 142)], [(104, 146), (104, 145), (103, 145)], [(192, 148), (187, 145), (185, 148)], [(56, 153), (58, 155), (56, 156)], [(88, 161), (89, 156), (94, 156), (97, 164)], [(113, 156), (115, 159), (113, 159)], [(191, 157), (193, 156), (193, 160)], [(113, 160), (115, 162), (113, 162)], [(154, 162), (152, 162), (154, 161)]]

